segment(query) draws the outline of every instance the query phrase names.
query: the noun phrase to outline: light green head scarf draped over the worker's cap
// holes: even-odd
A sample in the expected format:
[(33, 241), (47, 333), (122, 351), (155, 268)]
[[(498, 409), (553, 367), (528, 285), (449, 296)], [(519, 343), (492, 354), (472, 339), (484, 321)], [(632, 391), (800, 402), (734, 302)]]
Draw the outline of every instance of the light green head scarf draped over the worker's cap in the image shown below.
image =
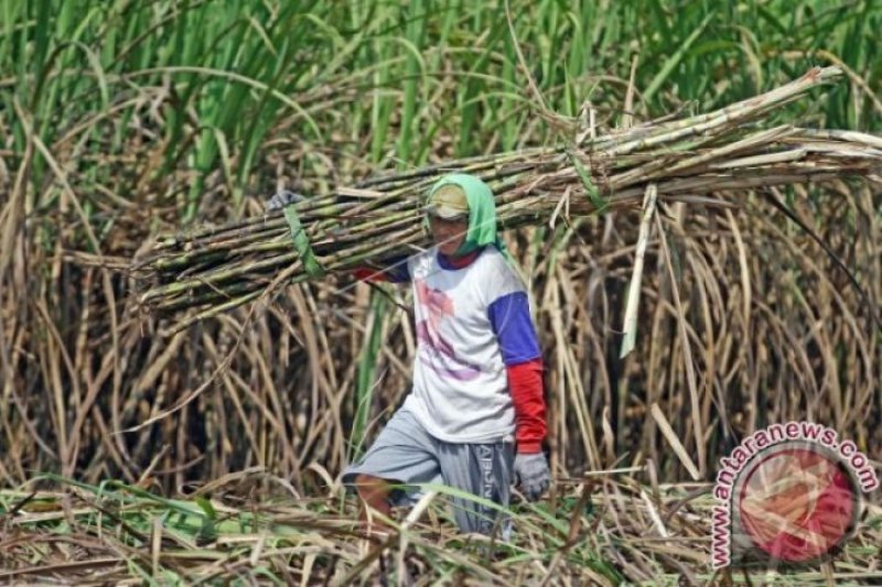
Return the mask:
[(474, 175), (465, 173), (450, 173), (434, 183), (429, 191), (429, 198), (442, 185), (454, 184), (465, 192), (469, 202), (469, 231), (465, 240), (456, 249), (456, 256), (469, 254), (482, 247), (493, 244), (501, 253), (510, 260), (505, 243), (496, 232), (496, 203), (490, 186)]

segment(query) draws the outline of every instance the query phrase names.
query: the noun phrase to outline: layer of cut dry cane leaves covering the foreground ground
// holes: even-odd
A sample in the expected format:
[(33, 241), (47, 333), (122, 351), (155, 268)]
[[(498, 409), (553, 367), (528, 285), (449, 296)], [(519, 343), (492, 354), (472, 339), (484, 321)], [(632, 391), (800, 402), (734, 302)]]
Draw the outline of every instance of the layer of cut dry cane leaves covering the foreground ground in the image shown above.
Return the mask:
[(0, 580), (648, 586), (826, 585), (830, 578), (873, 585), (882, 577), (878, 506), (868, 508), (858, 534), (824, 569), (713, 574), (710, 488), (649, 488), (641, 477), (595, 471), (561, 486), (548, 511), (514, 506), (509, 543), (458, 534), (444, 494), (431, 493), (398, 531), (367, 550), (353, 522), (352, 500), (341, 507), (334, 496), (294, 499), (273, 490), (283, 480), (261, 469), (175, 500), (137, 486), (90, 487), (55, 478), (56, 491), (0, 492)]

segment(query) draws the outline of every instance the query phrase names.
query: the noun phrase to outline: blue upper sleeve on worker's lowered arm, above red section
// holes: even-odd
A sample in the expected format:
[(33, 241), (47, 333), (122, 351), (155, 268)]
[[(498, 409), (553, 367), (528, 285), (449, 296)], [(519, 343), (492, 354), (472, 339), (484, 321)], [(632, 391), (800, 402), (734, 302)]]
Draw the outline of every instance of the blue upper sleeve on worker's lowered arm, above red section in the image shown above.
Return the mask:
[(515, 292), (496, 298), (487, 308), (487, 316), (499, 341), (506, 366), (541, 357), (526, 292)]

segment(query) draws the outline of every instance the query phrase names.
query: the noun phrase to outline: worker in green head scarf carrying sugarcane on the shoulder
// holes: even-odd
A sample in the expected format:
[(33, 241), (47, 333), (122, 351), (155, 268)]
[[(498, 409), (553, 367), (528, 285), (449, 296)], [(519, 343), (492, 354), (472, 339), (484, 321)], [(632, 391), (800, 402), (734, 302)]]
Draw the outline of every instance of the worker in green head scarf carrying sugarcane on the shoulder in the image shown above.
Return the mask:
[[(496, 232), (493, 193), (450, 174), (429, 193), (434, 247), (381, 273), (413, 287), (413, 384), (374, 445), (343, 474), (366, 508), (388, 515), (419, 483), (443, 483), (508, 506), (519, 481), (527, 499), (549, 485), (542, 359), (524, 283)], [(366, 278), (364, 273), (361, 278)], [(369, 279), (375, 279), (374, 276)], [(490, 534), (508, 520), (454, 497), (463, 532)]]

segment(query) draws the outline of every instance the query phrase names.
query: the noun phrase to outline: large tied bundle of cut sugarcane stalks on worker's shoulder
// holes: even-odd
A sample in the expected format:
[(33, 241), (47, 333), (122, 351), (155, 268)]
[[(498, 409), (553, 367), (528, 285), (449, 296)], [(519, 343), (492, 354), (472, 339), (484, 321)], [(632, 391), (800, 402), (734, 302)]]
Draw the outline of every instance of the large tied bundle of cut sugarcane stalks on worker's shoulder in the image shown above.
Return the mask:
[(428, 244), (422, 198), (454, 171), (493, 188), (503, 229), (639, 206), (649, 184), (660, 202), (724, 206), (713, 194), (846, 176), (882, 181), (882, 138), (760, 128), (770, 111), (838, 75), (835, 67), (814, 68), (710, 113), (389, 174), (258, 218), (161, 237), (133, 264), (138, 302), (150, 312), (190, 309), (183, 327), (255, 300), (271, 284), (383, 268)]

